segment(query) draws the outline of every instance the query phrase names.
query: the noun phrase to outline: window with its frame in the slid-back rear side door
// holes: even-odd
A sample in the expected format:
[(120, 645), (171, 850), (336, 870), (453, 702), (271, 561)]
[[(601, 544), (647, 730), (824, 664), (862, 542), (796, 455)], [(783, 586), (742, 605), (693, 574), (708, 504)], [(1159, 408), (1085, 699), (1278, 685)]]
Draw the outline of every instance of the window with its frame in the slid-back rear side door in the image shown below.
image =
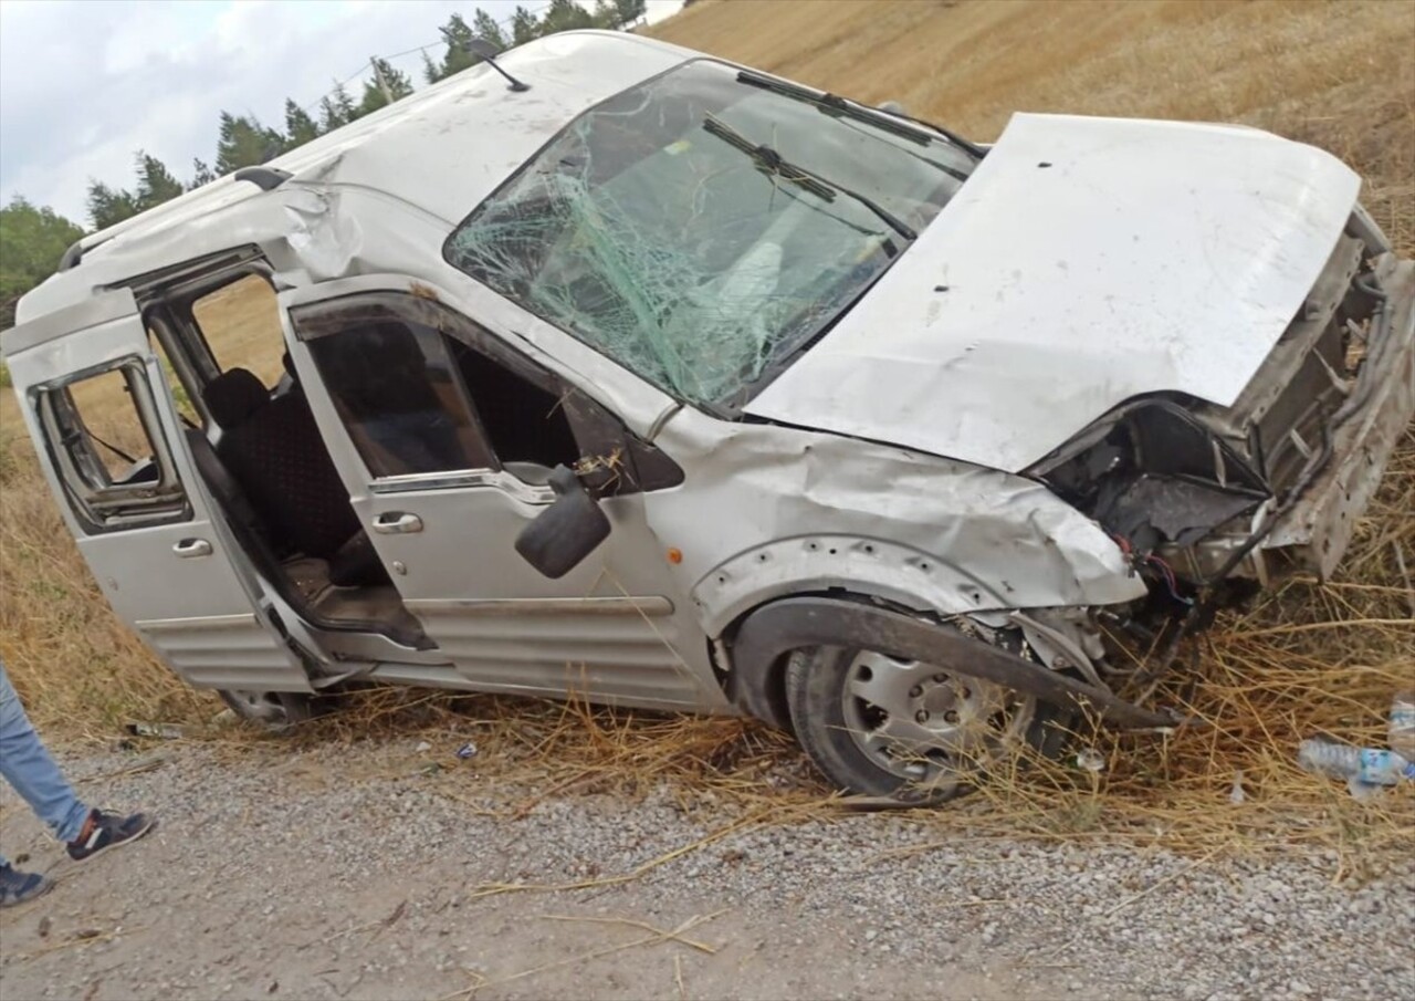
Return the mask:
[(190, 517), (139, 358), (33, 394), (64, 493), (86, 531)]

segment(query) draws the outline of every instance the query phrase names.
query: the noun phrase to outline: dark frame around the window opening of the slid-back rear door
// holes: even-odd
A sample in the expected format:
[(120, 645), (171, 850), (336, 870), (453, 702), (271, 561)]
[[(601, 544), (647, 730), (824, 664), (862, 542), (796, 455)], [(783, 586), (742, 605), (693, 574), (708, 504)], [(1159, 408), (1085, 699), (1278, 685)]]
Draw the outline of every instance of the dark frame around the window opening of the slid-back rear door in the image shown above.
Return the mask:
[[(123, 377), (139, 426), (151, 449), (150, 459), (157, 466), (156, 480), (113, 483), (108, 467), (96, 456), (93, 446), (96, 439), (69, 388), (109, 372), (120, 372)], [(153, 394), (147, 358), (127, 354), (76, 372), (67, 372), (58, 379), (31, 387), (28, 398), (55, 479), (86, 535), (192, 520), (191, 500), (177, 471), (157, 398)], [(72, 449), (76, 443), (75, 435), (81, 436), (88, 456), (75, 454)]]

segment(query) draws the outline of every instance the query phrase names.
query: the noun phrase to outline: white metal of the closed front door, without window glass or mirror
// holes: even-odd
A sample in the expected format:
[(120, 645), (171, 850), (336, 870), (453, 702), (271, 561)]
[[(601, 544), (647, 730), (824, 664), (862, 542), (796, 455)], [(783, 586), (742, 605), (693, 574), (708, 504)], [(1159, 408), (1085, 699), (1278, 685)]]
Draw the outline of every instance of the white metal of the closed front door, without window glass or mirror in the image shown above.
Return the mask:
[[(280, 302), (290, 309), (361, 292), (406, 293), (409, 286), (408, 276), (366, 275), (291, 289)], [(453, 300), (444, 289), (422, 287)], [(484, 314), (475, 303), (458, 304), (458, 311)], [(546, 578), (515, 552), (515, 539), (555, 500), (549, 487), (491, 469), (374, 479), (308, 347), (294, 337), (289, 344), (354, 511), (392, 568), (405, 606), (470, 688), (727, 709), (686, 588), (645, 521), (648, 498), (600, 501), (613, 524), (608, 539), (566, 576)], [(649, 389), (641, 401), (659, 395)], [(379, 531), (382, 522), (409, 517), (415, 531)]]

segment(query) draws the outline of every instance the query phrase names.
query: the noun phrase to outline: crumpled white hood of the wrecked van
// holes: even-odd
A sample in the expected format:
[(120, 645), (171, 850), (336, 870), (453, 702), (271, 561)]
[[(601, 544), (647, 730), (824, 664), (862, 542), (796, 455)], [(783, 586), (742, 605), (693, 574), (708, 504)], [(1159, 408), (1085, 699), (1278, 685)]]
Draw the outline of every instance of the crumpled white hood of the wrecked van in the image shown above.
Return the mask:
[(958, 195), (749, 413), (1006, 471), (1115, 405), (1231, 405), (1360, 178), (1235, 126), (1016, 115)]

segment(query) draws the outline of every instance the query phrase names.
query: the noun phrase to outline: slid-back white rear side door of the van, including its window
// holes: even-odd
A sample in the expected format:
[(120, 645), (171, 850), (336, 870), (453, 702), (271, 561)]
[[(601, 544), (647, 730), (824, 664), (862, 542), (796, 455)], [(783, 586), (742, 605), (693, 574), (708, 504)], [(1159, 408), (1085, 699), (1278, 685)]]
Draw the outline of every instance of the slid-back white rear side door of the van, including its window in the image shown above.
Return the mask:
[(4, 337), (40, 464), (113, 610), (198, 688), (311, 691), (194, 473), (133, 293)]

